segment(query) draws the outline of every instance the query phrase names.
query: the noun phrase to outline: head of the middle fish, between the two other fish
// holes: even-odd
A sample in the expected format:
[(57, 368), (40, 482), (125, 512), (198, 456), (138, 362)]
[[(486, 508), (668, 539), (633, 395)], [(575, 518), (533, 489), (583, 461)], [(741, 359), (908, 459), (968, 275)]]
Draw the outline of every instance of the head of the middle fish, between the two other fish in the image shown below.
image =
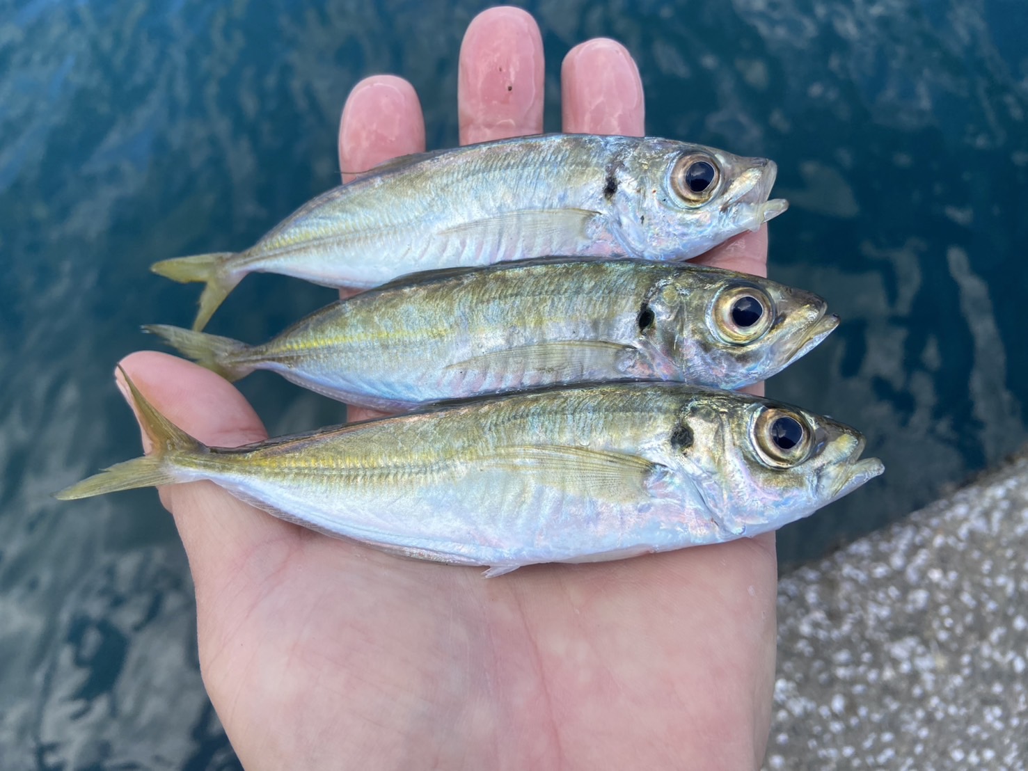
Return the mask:
[(823, 298), (769, 279), (684, 265), (644, 303), (640, 348), (671, 379), (736, 389), (781, 371), (839, 325)]

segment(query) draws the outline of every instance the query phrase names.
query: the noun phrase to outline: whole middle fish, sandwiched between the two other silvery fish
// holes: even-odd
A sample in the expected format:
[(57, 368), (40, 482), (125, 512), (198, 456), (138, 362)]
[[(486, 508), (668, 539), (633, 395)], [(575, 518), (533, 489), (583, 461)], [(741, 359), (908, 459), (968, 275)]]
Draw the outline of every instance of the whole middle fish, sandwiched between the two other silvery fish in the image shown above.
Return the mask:
[(575, 258), (405, 277), (258, 345), (144, 329), (228, 380), (267, 369), (348, 404), (398, 411), (576, 381), (737, 389), (823, 340), (839, 323), (827, 307), (810, 292), (715, 267)]

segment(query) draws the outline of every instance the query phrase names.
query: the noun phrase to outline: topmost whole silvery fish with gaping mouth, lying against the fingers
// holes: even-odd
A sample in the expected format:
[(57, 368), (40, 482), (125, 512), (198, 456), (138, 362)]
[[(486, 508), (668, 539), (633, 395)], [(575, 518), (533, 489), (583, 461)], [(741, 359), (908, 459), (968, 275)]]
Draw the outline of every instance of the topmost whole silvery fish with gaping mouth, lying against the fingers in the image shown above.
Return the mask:
[(666, 139), (519, 137), (389, 161), (289, 216), (250, 249), (153, 270), (207, 286), (203, 329), (249, 272), (357, 290), (442, 267), (551, 254), (681, 260), (757, 229), (775, 164)]

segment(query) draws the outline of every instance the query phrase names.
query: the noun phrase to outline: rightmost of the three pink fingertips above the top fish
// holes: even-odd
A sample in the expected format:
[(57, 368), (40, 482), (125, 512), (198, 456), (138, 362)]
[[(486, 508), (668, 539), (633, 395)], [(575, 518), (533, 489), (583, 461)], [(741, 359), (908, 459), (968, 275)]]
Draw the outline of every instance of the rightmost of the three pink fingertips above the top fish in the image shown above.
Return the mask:
[(571, 134), (646, 134), (642, 80), (621, 43), (587, 40), (572, 48), (560, 68), (560, 110)]

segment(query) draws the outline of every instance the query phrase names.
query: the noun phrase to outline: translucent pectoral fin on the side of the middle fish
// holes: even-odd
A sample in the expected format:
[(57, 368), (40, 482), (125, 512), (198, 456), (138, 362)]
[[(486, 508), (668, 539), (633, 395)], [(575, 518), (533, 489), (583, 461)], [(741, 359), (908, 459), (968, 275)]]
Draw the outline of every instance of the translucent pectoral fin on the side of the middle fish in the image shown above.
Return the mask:
[(512, 348), (490, 351), (446, 367), (448, 370), (470, 372), (539, 372), (554, 379), (578, 378), (596, 369), (614, 373), (618, 366), (632, 356), (631, 345), (607, 340), (557, 340), (537, 345), (519, 345)]

